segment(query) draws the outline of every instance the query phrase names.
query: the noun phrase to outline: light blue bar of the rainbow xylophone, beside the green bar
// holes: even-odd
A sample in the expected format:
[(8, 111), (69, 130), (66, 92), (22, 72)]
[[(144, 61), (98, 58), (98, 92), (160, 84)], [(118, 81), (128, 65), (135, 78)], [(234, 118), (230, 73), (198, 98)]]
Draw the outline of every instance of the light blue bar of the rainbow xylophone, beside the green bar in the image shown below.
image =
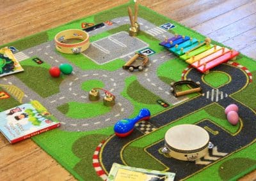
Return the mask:
[(187, 40), (181, 43), (180, 45), (175, 45), (175, 47), (169, 48), (170, 52), (173, 52), (173, 54), (176, 55), (183, 55), (191, 48), (198, 45), (198, 40), (193, 38), (192, 40)]

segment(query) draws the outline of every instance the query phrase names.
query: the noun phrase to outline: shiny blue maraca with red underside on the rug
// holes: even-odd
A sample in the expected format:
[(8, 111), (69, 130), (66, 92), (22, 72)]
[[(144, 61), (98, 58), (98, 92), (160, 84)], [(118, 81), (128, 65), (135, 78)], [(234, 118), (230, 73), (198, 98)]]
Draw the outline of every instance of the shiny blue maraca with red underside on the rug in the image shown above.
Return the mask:
[(150, 111), (147, 108), (140, 110), (139, 114), (132, 119), (118, 120), (114, 126), (116, 136), (125, 137), (132, 133), (136, 122), (150, 119)]

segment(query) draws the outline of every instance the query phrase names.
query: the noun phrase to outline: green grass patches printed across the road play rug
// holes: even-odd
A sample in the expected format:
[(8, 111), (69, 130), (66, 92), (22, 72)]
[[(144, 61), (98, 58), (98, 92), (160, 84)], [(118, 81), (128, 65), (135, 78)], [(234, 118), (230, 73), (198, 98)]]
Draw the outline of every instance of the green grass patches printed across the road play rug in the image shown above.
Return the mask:
[[(19, 50), (25, 50), (26, 48), (40, 45), (41, 43), (52, 40), (54, 36), (60, 31), (63, 31), (65, 29), (77, 29), (77, 27), (80, 27), (81, 22), (93, 22), (97, 24), (106, 20), (111, 20), (116, 17), (127, 16), (127, 6), (129, 5), (133, 6), (133, 3), (130, 2), (114, 8), (114, 11), (107, 10), (97, 13), (97, 15), (92, 15), (90, 17), (81, 18), (80, 20), (75, 20), (74, 22), (61, 25), (60, 27), (56, 27), (54, 29), (50, 29), (49, 31), (38, 33), (34, 36), (29, 36), (28, 38), (15, 41), (14, 43), (8, 43), (8, 45), (12, 45)], [(145, 20), (148, 20), (157, 26), (166, 22), (172, 22), (176, 25), (176, 27), (172, 29), (172, 32), (174, 33), (191, 36), (198, 40), (204, 40), (205, 38), (205, 36), (202, 36), (201, 34), (196, 33), (195, 31), (188, 29), (187, 27), (177, 24), (173, 20), (170, 20), (163, 15), (159, 15), (143, 6), (140, 6), (139, 17), (145, 18)], [(96, 34), (95, 36), (91, 37), (91, 41), (100, 40), (101, 38), (105, 38), (106, 36), (117, 33), (119, 31), (128, 31), (127, 27), (129, 26), (123, 25), (116, 29), (111, 29), (109, 31), (105, 31), (104, 33)], [(156, 38), (148, 35), (147, 33), (141, 31), (137, 38), (148, 43), (150, 48), (156, 51), (156, 54), (165, 51), (163, 47), (158, 45), (159, 41), (157, 41)], [(221, 45), (221, 43), (215, 42), (213, 40), (212, 43), (216, 45)], [(2, 45), (1, 47), (4, 46), (6, 45)], [(115, 61), (99, 65), (88, 59), (88, 57), (84, 57), (84, 55), (81, 54), (70, 55), (61, 54), (60, 52), (56, 53), (66, 58), (68, 61), (72, 62), (78, 68), (81, 68), (83, 70), (93, 70), (95, 72), (97, 72), (97, 70), (99, 69), (106, 71), (115, 71), (116, 69), (122, 68), (125, 62), (122, 59), (116, 59)], [(44, 61), (44, 59), (42, 59), (42, 61)], [(246, 66), (246, 68), (248, 68), (249, 71), (252, 72), (253, 77), (256, 76), (255, 61), (252, 61), (252, 59), (245, 57), (244, 55), (239, 55), (237, 57), (237, 62), (239, 62), (239, 64), (242, 64), (243, 66)], [(28, 59), (26, 61), (22, 61), (21, 64), (24, 67), (25, 71), (24, 73), (18, 73), (15, 76), (17, 76), (30, 89), (38, 93), (43, 98), (47, 98), (58, 92), (61, 81), (63, 81), (63, 79), (65, 79), (66, 77), (61, 76), (60, 78), (50, 80), (50, 75), (48, 73), (50, 65), (47, 63), (38, 65), (35, 62), (31, 61), (31, 59)], [(159, 67), (157, 68), (157, 76), (159, 77), (159, 80), (165, 83), (168, 83), (170, 81), (178, 81), (181, 78), (182, 71), (187, 68), (187, 66), (188, 64), (186, 64), (186, 62), (182, 61), (180, 58), (170, 59), (169, 61), (163, 62), (159, 65)], [(214, 78), (210, 78), (212, 79), (210, 81), (211, 85), (223, 85), (225, 81), (223, 81), (222, 78), (223, 77), (220, 75), (216, 80), (214, 80)], [(45, 86), (45, 84), (43, 86), (41, 84), (42, 82), (47, 82), (47, 86)], [(96, 84), (99, 85), (100, 83), (97, 82), (95, 83), (95, 85)], [(92, 87), (92, 85), (93, 83), (91, 82), (90, 86)], [(256, 83), (252, 82), (242, 91), (236, 92), (236, 94), (230, 96), (255, 110), (256, 101), (255, 99), (252, 99), (255, 98), (255, 85)], [(85, 85), (82, 85), (81, 89), (83, 89), (84, 91), (88, 91), (90, 89), (90, 86), (87, 86), (85, 83)], [(101, 84), (100, 86), (103, 85)], [(47, 89), (45, 87), (47, 87)], [(136, 91), (136, 89), (140, 89), (142, 91)], [(0, 86), (0, 91), (1, 90), (3, 90), (3, 88)], [(152, 115), (162, 112), (164, 110), (163, 107), (157, 105), (156, 102), (154, 102), (154, 99), (158, 98), (157, 95), (153, 94), (152, 92), (145, 89), (145, 87), (140, 85), (136, 75), (127, 76), (127, 78), (125, 78), (125, 87), (121, 95), (125, 99), (127, 99), (127, 101), (129, 101), (129, 103), (131, 103), (131, 105), (133, 106), (133, 112), (129, 117), (134, 117), (135, 115), (137, 115), (138, 110), (140, 110), (141, 108), (148, 108)], [(196, 96), (196, 94), (194, 96)], [(194, 96), (189, 96), (189, 98), (193, 98)], [(164, 101), (168, 102), (168, 100)], [(17, 105), (19, 105), (19, 102), (16, 101), (13, 97), (10, 99), (0, 99), (0, 110), (6, 110)], [(60, 112), (67, 115), (67, 117), (75, 118), (90, 118), (111, 111), (111, 108), (102, 107), (102, 102), (90, 104), (68, 102), (65, 105), (59, 106), (58, 109), (60, 110)], [(84, 112), (83, 110), (87, 110), (87, 112)], [(146, 152), (143, 152), (143, 149), (145, 147), (148, 147), (148, 145), (156, 143), (156, 141), (163, 140), (164, 133), (166, 133), (166, 131), (170, 127), (177, 124), (196, 124), (198, 122), (204, 121), (205, 119), (209, 119), (211, 120), (211, 122), (214, 122), (214, 124), (221, 127), (228, 133), (236, 134), (241, 125), (239, 124), (238, 126), (231, 126), (227, 122), (225, 114), (223, 114), (223, 110), (223, 107), (213, 103), (212, 105), (206, 106), (205, 108), (197, 110), (194, 113), (184, 115), (184, 117), (182, 117), (181, 119), (172, 122), (172, 124), (160, 127), (160, 129), (157, 129), (157, 131), (154, 131), (153, 133), (147, 134), (146, 136), (143, 136), (138, 140), (132, 141), (124, 149), (125, 161), (131, 164), (131, 166), (138, 166), (141, 168), (147, 167), (154, 170), (163, 170), (163, 165), (159, 164), (156, 159), (148, 156)], [(54, 159), (56, 159), (62, 166), (70, 171), (70, 173), (72, 173), (74, 177), (78, 178), (79, 180), (101, 180), (101, 178), (96, 175), (95, 170), (92, 167), (92, 156), (95, 148), (97, 147), (97, 145), (99, 145), (100, 141), (108, 138), (108, 136), (111, 134), (113, 134), (113, 126), (105, 127), (102, 129), (95, 129), (93, 131), (81, 132), (54, 129), (47, 133), (39, 134), (38, 136), (33, 137), (33, 140), (38, 143), (40, 147), (44, 148), (47, 153), (54, 157)], [(253, 154), (255, 153), (255, 150), (256, 143), (254, 141), (253, 143), (248, 145), (248, 147), (239, 148), (239, 150), (229, 154), (227, 157), (225, 157), (225, 159), (221, 159), (220, 161), (211, 164), (211, 166), (207, 166), (206, 168), (204, 168), (204, 170), (196, 173), (195, 175), (189, 176), (187, 179), (225, 180), (226, 178), (236, 179), (242, 177), (244, 174), (255, 169), (256, 155)], [(132, 153), (134, 152), (136, 152), (139, 157), (132, 157)], [(236, 166), (236, 168), (232, 169), (233, 171), (230, 171), (229, 175), (223, 172), (224, 170), (220, 171), (221, 166), (224, 165), (226, 167), (227, 165), (232, 166), (232, 163), (237, 164), (241, 157), (250, 159), (251, 162), (247, 162), (246, 159), (246, 162), (244, 162), (242, 166)], [(145, 161), (145, 159), (147, 159), (147, 161)], [(232, 161), (228, 162), (228, 160), (231, 159)], [(230, 168), (232, 168), (231, 166)], [(238, 172), (241, 173), (239, 174)]]

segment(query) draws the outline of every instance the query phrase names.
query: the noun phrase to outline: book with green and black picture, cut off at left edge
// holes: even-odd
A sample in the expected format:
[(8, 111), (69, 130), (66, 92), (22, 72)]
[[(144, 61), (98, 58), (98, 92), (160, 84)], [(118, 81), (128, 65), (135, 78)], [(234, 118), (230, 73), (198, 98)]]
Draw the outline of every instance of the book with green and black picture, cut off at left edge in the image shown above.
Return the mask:
[(24, 71), (8, 47), (0, 49), (0, 76)]

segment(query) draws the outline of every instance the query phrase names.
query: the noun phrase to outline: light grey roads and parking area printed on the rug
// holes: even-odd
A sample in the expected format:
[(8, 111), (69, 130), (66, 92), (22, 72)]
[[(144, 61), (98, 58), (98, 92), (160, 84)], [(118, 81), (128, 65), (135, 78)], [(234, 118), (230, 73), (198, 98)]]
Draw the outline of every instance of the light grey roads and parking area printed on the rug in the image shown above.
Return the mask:
[[(89, 33), (90, 36), (102, 33), (109, 29), (114, 29), (120, 25), (129, 24), (128, 17), (115, 18), (111, 21), (113, 22), (113, 25), (105, 25), (95, 31), (91, 31)], [(147, 20), (139, 18), (139, 22), (141, 31), (145, 31), (159, 41), (163, 41), (165, 37), (173, 36), (173, 34), (156, 27), (156, 25), (151, 24)], [(136, 37), (132, 38), (126, 32), (113, 34), (101, 40), (92, 42), (91, 44), (90, 48), (84, 51), (83, 54), (90, 57), (90, 59), (93, 59), (97, 64), (104, 64), (118, 58), (128, 61), (134, 55), (134, 52), (148, 47), (147, 43)], [(111, 47), (111, 50), (109, 47)], [(150, 55), (150, 63), (148, 66), (141, 72), (134, 71), (133, 73), (125, 71), (122, 68), (117, 69), (116, 71), (83, 71), (56, 52), (54, 41), (42, 43), (41, 45), (23, 50), (22, 56), (39, 57), (51, 66), (60, 66), (62, 63), (69, 63), (72, 65), (73, 73), (61, 82), (60, 92), (49, 96), (48, 98), (42, 98), (15, 76), (8, 76), (8, 80), (6, 81), (12, 82), (13, 85), (19, 85), (19, 88), (25, 92), (26, 97), (24, 97), (23, 102), (27, 102), (31, 99), (40, 101), (46, 108), (48, 108), (49, 112), (60, 120), (61, 129), (67, 131), (88, 131), (96, 128), (99, 129), (101, 127), (113, 126), (117, 120), (129, 117), (134, 108), (127, 99), (121, 96), (121, 92), (124, 91), (125, 78), (131, 75), (136, 75), (138, 82), (140, 82), (143, 87), (164, 99), (164, 101), (172, 104), (182, 101), (170, 94), (170, 86), (159, 80), (157, 76), (157, 67), (164, 61), (168, 61), (174, 57), (167, 51)], [(116, 96), (116, 105), (113, 106), (111, 112), (90, 119), (72, 119), (57, 109), (58, 106), (71, 101), (90, 103), (88, 100), (88, 92), (81, 89), (81, 84), (92, 79), (101, 80), (106, 86), (104, 89), (107, 89)]]

